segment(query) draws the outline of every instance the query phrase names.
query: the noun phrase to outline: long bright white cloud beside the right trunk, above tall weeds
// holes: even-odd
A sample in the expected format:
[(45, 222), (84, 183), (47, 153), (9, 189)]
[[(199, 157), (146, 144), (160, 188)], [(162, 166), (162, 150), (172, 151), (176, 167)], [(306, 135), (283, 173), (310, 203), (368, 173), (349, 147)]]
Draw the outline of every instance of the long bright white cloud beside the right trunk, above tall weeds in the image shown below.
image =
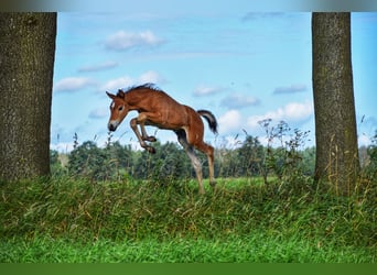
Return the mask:
[(261, 116), (252, 116), (247, 120), (247, 125), (255, 129), (259, 128), (259, 121), (271, 119), (276, 121), (298, 122), (306, 120), (313, 113), (313, 102), (304, 103), (291, 102), (278, 110), (267, 112)]

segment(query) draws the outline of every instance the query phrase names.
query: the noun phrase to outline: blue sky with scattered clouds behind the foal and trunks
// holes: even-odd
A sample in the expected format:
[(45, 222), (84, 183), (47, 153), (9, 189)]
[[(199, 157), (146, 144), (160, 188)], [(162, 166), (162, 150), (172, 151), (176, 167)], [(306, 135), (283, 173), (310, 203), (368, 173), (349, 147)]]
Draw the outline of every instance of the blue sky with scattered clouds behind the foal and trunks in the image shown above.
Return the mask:
[[(206, 127), (205, 140), (216, 146), (231, 146), (244, 130), (263, 142), (262, 119), (311, 131), (305, 145), (314, 145), (310, 12), (254, 12), (248, 1), (184, 9), (157, 2), (149, 9), (58, 13), (52, 148), (72, 150), (75, 133), (80, 143), (104, 145), (110, 105), (105, 91), (143, 82), (211, 110), (219, 134)], [(352, 43), (359, 145), (365, 145), (377, 129), (377, 13), (352, 14)], [(129, 128), (136, 114), (129, 113), (114, 141), (138, 148)], [(170, 131), (159, 130), (157, 138), (175, 141)]]

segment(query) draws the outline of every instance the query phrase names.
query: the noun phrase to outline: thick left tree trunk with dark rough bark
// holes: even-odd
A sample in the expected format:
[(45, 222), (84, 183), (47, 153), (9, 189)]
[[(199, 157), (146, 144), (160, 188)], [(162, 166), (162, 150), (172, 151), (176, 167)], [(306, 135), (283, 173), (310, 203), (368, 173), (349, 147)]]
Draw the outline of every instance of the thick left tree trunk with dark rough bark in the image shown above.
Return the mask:
[(56, 13), (0, 13), (0, 179), (50, 174)]

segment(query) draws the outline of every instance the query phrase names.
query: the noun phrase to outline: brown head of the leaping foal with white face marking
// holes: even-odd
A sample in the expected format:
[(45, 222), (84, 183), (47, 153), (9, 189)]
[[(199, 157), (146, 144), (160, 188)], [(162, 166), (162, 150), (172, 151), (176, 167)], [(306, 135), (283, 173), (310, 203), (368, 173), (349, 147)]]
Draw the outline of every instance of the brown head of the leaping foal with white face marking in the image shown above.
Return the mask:
[(106, 94), (109, 98), (112, 99), (112, 102), (110, 105), (111, 113), (107, 128), (109, 129), (109, 131), (115, 131), (126, 118), (129, 108), (127, 102), (125, 101), (125, 92), (122, 90), (119, 90), (117, 95), (112, 95), (108, 91), (106, 91)]

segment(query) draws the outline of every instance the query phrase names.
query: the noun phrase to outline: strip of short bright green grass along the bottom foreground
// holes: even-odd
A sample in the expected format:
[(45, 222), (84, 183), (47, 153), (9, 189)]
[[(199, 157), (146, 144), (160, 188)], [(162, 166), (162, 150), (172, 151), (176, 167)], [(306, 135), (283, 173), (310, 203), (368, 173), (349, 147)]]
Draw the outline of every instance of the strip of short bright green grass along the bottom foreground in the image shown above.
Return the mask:
[(373, 263), (371, 249), (255, 232), (224, 239), (77, 242), (39, 237), (1, 241), (2, 263)]

